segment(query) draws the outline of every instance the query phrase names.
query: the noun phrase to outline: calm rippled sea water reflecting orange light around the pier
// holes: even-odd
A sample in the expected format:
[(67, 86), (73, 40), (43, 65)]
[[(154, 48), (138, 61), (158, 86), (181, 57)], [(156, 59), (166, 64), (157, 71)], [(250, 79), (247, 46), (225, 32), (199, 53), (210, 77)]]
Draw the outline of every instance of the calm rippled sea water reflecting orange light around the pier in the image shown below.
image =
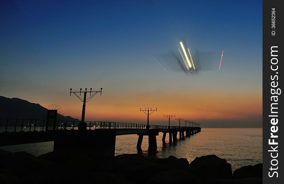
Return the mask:
[[(115, 155), (139, 153), (146, 157), (167, 158), (174, 155), (186, 158), (189, 162), (202, 155), (217, 155), (232, 165), (232, 171), (246, 165), (262, 163), (262, 128), (202, 128), (202, 131), (185, 137), (175, 144), (162, 143), (163, 133), (157, 136), (157, 152), (148, 153), (148, 136), (144, 136), (142, 152), (138, 152), (137, 135), (116, 137)], [(178, 134), (179, 136), (179, 134)], [(26, 151), (35, 156), (53, 150), (53, 142), (3, 146), (0, 149), (17, 152)]]

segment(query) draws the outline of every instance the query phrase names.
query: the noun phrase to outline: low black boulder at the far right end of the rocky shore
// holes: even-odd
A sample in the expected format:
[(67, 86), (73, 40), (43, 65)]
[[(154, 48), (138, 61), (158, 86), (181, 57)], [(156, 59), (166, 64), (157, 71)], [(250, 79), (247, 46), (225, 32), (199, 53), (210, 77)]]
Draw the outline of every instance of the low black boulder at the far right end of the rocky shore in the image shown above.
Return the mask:
[(254, 166), (248, 165), (236, 169), (233, 174), (233, 178), (251, 178), (262, 177), (262, 163), (258, 163)]

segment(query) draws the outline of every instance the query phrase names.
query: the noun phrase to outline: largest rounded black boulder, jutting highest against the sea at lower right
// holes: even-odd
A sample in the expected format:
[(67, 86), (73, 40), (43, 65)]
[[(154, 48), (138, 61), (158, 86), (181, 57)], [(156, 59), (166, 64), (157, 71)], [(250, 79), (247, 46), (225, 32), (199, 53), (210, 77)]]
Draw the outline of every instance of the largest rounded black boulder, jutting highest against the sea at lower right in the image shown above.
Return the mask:
[(216, 155), (196, 157), (186, 171), (196, 175), (204, 183), (211, 179), (232, 178), (231, 164)]

